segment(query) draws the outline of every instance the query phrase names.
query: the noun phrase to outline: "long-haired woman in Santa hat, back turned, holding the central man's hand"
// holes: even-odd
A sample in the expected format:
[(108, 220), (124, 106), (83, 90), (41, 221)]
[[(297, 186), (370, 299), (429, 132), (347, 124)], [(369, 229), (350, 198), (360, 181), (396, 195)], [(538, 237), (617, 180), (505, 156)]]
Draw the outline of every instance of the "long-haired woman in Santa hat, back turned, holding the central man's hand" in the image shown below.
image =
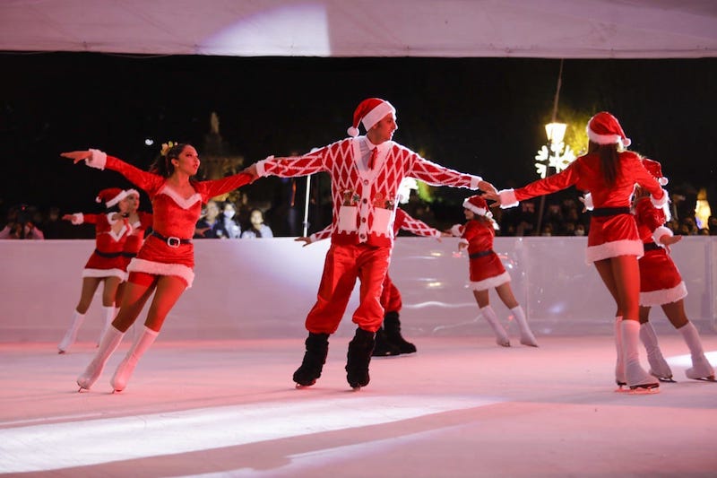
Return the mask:
[[(554, 176), (534, 181), (519, 189), (486, 194), (501, 207), (575, 186), (592, 193), (592, 212), (586, 258), (595, 265), (602, 282), (618, 306), (616, 343), (625, 363), (626, 385), (635, 392), (657, 392), (660, 382), (640, 364), (639, 300), (640, 270), (637, 257), (643, 256), (643, 242), (637, 233), (630, 197), (635, 183), (652, 195), (652, 204), (661, 207), (668, 196), (655, 178), (644, 169), (635, 152), (621, 151), (630, 140), (618, 118), (608, 112), (593, 116), (587, 126), (588, 153)], [(618, 382), (619, 382), (618, 378)]]

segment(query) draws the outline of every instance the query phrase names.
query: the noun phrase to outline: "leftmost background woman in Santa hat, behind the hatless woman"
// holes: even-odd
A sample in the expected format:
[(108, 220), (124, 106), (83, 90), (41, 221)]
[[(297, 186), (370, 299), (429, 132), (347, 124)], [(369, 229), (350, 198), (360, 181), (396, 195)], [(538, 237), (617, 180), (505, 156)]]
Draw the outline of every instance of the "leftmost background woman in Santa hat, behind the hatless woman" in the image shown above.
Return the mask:
[[(125, 247), (125, 240), (132, 231), (126, 220), (126, 213), (129, 208), (126, 191), (119, 187), (110, 187), (99, 191), (98, 203), (105, 203), (108, 213), (65, 214), (63, 219), (73, 224), (94, 224), (95, 225), (95, 250), (82, 270), (82, 292), (80, 301), (74, 309), (70, 327), (65, 332), (62, 341), (57, 345), (58, 353), (65, 353), (77, 340), (77, 333), (84, 322), (87, 309), (90, 309), (92, 298), (99, 287), (104, 283), (102, 291), (102, 309), (105, 312), (105, 323), (102, 331), (115, 318), (117, 309), (117, 288), (120, 282), (125, 280), (125, 265), (122, 258), (122, 250)], [(99, 335), (101, 340), (102, 335)]]

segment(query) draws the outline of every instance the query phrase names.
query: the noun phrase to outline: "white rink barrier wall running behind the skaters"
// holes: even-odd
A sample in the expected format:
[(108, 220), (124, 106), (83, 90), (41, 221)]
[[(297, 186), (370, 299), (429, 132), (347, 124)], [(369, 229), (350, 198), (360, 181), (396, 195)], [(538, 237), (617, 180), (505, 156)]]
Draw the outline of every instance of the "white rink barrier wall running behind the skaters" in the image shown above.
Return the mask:
[[(196, 278), (162, 329), (168, 340), (304, 337), (329, 241), (302, 248), (291, 238), (200, 239), (194, 242)], [(611, 334), (613, 300), (593, 266), (585, 264), (585, 238), (497, 238), (495, 250), (512, 277), (516, 299), (536, 335)], [(402, 331), (421, 335), (483, 335), (468, 282), (468, 257), (458, 239), (401, 237), (389, 268), (402, 292)], [(94, 241), (2, 240), (0, 342), (58, 342), (80, 298), (82, 266)], [(717, 330), (717, 239), (685, 237), (672, 257), (689, 294), (689, 317), (703, 334)], [(94, 341), (102, 323), (101, 286), (78, 340)], [(495, 291), (491, 305), (507, 326), (509, 311)], [(351, 314), (358, 283), (338, 335), (353, 335)], [(144, 313), (139, 317), (143, 322)], [(652, 324), (671, 327), (661, 309)]]

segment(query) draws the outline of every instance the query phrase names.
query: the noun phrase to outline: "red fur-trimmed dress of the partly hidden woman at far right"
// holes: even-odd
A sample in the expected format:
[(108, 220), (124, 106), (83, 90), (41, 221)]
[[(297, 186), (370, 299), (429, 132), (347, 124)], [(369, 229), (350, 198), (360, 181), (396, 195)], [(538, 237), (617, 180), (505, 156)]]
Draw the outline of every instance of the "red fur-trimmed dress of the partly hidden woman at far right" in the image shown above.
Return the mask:
[(644, 256), (638, 261), (641, 306), (661, 306), (687, 297), (687, 286), (667, 250), (648, 247), (660, 244), (663, 235), (672, 235), (672, 231), (664, 226), (666, 219), (662, 209), (652, 207), (647, 197), (636, 202), (635, 221), (645, 245)]

